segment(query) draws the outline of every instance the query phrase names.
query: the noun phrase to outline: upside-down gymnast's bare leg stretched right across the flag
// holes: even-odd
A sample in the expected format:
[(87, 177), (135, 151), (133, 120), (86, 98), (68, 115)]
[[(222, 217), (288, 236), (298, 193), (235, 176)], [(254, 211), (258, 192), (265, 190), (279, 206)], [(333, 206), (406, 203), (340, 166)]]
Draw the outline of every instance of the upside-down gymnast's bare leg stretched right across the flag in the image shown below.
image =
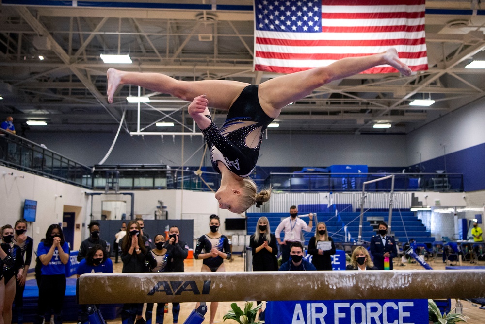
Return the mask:
[(258, 88), (259, 103), (269, 117), (276, 118), (281, 108), (306, 97), (314, 89), (383, 64), (396, 68), (405, 76), (411, 75), (411, 69), (399, 60), (397, 51), (391, 48), (384, 53), (347, 57), (326, 67), (312, 68), (265, 81)]

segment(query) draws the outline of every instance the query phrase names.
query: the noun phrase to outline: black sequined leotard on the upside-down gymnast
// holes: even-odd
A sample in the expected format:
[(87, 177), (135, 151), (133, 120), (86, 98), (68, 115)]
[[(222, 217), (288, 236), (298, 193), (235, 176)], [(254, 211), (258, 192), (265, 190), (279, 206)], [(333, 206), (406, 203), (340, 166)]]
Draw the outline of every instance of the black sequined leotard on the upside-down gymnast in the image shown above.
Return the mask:
[(258, 85), (246, 86), (230, 107), (222, 128), (212, 122), (202, 130), (210, 144), (214, 169), (221, 173), (217, 166), (221, 161), (233, 173), (249, 176), (258, 161), (263, 132), (272, 121), (259, 104)]

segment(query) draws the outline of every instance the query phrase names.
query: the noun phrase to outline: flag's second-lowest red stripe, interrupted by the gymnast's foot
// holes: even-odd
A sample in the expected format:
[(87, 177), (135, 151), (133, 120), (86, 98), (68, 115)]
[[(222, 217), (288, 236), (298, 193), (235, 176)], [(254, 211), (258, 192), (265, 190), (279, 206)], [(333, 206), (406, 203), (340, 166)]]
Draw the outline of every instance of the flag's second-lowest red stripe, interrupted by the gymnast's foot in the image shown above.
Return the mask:
[[(261, 58), (280, 59), (280, 60), (339, 60), (345, 57), (361, 57), (372, 55), (372, 53), (358, 53), (358, 54), (326, 54), (326, 53), (280, 53), (280, 52), (267, 52), (256, 51), (255, 56)], [(399, 52), (400, 58), (420, 58), (426, 57), (426, 51), (420, 52)]]

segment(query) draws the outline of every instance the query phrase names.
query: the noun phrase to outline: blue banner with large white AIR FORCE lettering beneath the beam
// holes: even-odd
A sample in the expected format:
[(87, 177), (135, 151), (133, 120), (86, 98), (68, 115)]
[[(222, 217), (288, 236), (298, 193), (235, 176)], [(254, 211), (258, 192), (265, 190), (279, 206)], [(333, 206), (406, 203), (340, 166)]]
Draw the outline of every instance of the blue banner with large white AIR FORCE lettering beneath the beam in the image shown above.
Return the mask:
[(428, 324), (426, 299), (266, 302), (265, 324)]

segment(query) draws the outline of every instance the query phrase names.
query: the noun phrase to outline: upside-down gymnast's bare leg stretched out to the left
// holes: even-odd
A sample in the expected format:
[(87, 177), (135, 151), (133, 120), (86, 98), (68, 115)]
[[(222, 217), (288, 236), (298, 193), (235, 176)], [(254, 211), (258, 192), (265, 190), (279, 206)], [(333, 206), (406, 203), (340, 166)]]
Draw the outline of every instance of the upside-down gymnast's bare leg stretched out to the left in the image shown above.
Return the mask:
[(192, 101), (207, 94), (209, 107), (228, 110), (247, 83), (230, 80), (180, 81), (161, 73), (125, 72), (108, 69), (108, 102), (120, 85), (138, 85), (156, 92), (167, 93), (182, 100)]

